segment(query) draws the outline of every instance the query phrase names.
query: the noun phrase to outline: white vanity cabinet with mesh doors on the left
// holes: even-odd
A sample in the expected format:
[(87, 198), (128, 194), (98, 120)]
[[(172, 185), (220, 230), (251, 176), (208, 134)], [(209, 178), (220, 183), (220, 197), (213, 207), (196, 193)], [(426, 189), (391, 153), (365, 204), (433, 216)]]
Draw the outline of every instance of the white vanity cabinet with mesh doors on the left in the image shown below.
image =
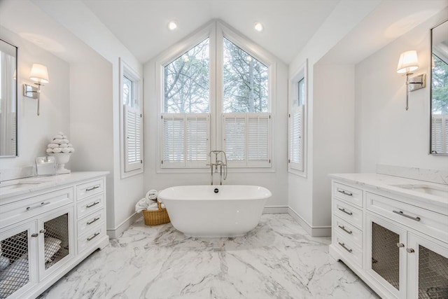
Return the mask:
[[(32, 190), (1, 191), (0, 299), (36, 298), (94, 250), (109, 244), (106, 174), (38, 178), (41, 183), (34, 181)], [(21, 183), (29, 186), (26, 179)], [(98, 199), (100, 204), (83, 209)]]

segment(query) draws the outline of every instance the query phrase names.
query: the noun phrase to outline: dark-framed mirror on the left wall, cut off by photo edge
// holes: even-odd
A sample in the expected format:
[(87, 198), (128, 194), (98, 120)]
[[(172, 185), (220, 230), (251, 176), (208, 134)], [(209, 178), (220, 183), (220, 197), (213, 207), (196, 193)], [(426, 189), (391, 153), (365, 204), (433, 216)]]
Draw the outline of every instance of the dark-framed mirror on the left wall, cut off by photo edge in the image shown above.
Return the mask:
[(17, 47), (0, 39), (0, 157), (18, 155)]

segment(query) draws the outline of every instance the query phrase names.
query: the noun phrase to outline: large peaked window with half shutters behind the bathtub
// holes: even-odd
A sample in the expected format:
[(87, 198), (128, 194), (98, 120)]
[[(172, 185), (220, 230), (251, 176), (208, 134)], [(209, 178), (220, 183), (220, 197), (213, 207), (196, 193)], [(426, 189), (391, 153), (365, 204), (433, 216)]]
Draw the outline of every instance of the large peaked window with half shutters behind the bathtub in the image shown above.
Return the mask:
[(160, 168), (207, 167), (221, 148), (229, 167), (271, 167), (272, 57), (216, 21), (180, 45), (158, 62)]

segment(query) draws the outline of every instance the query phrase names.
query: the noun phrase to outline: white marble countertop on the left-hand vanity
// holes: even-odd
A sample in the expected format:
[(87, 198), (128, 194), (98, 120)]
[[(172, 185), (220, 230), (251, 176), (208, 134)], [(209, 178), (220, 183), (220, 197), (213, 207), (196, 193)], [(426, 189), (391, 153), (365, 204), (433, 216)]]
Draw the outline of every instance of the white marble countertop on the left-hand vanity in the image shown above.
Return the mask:
[(70, 174), (57, 174), (55, 176), (32, 176), (25, 179), (2, 181), (0, 182), (0, 201), (85, 179), (94, 179), (106, 174), (109, 174), (109, 172), (71, 172)]

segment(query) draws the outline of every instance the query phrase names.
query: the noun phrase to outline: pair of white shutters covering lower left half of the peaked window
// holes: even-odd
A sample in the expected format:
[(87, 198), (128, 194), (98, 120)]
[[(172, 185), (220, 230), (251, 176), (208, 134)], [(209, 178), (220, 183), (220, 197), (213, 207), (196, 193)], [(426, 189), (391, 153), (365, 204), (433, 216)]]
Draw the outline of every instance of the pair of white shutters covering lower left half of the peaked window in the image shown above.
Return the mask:
[(162, 134), (162, 168), (207, 166), (208, 113), (163, 113)]

